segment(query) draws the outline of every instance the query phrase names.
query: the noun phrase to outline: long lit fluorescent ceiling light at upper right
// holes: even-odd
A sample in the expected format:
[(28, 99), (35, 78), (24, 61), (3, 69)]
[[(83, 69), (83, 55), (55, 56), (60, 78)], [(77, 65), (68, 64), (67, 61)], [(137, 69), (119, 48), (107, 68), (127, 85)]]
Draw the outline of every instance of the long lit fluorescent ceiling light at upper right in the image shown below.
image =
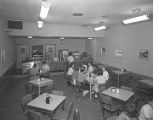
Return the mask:
[(123, 20), (122, 22), (123, 24), (130, 24), (130, 23), (135, 23), (135, 22), (140, 22), (145, 20), (149, 20), (148, 15), (142, 15), (135, 18), (126, 19), (126, 20)]

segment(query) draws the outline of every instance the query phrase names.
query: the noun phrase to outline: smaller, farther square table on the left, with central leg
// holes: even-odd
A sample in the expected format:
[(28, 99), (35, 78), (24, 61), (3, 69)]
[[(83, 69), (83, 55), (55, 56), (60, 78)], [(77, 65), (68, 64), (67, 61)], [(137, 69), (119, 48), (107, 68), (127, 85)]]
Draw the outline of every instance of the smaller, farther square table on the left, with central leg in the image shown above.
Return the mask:
[(41, 93), (41, 87), (44, 87), (48, 84), (52, 84), (54, 80), (51, 80), (49, 78), (38, 78), (34, 80), (28, 81), (31, 85), (38, 87), (38, 94), (40, 95)]

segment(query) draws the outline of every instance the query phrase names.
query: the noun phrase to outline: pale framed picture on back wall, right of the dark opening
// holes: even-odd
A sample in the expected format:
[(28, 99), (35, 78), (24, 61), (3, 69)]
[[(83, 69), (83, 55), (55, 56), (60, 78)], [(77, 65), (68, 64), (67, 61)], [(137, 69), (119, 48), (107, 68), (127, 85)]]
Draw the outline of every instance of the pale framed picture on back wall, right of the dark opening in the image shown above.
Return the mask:
[(46, 44), (45, 45), (45, 57), (46, 59), (53, 60), (56, 56), (56, 45)]

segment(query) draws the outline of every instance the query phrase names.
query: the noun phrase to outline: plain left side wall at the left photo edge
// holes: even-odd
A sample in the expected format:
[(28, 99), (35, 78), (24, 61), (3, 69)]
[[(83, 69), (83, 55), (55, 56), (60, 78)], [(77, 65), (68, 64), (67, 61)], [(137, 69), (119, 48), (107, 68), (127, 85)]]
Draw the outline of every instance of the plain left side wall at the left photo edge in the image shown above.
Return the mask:
[[(6, 21), (0, 17), (0, 51), (5, 51), (5, 59), (0, 62), (0, 76), (2, 76), (16, 61), (15, 42), (5, 32)], [(1, 81), (0, 81), (1, 82)]]

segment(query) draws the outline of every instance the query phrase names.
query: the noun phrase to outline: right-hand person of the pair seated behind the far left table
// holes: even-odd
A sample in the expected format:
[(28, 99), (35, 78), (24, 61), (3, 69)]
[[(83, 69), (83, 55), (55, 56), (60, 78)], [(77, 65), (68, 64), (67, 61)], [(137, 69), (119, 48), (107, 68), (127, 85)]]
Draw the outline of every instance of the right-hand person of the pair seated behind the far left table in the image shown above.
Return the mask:
[(40, 69), (40, 76), (49, 77), (49, 71), (50, 71), (49, 65), (46, 63), (46, 61), (43, 61), (41, 69)]

